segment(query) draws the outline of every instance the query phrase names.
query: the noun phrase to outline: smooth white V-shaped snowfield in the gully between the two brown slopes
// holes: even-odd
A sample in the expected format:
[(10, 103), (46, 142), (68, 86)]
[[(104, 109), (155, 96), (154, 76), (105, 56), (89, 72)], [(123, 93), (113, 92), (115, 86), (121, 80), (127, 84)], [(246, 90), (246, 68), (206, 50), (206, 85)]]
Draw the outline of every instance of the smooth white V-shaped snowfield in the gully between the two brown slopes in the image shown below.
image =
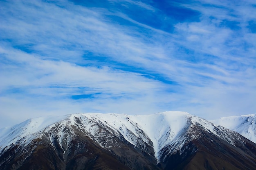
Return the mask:
[(183, 129), (187, 124), (187, 116), (191, 115), (187, 112), (167, 111), (148, 116), (136, 115), (133, 119), (153, 142), (155, 157), (159, 160), (161, 156), (159, 151)]

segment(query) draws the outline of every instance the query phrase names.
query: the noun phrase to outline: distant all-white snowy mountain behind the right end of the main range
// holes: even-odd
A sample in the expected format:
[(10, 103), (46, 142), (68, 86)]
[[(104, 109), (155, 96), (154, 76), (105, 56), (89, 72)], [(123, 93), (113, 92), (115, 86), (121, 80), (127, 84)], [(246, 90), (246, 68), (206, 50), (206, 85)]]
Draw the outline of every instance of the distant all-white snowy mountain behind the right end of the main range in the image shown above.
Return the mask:
[(223, 117), (211, 122), (236, 131), (256, 143), (256, 114)]

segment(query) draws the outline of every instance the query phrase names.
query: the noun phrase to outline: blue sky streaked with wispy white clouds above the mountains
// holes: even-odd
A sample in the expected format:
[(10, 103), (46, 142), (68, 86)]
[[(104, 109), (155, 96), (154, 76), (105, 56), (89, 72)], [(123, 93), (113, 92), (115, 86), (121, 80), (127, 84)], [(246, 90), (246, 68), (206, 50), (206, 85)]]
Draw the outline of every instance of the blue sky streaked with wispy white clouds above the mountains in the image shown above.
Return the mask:
[(70, 113), (256, 113), (254, 0), (0, 0), (0, 127)]

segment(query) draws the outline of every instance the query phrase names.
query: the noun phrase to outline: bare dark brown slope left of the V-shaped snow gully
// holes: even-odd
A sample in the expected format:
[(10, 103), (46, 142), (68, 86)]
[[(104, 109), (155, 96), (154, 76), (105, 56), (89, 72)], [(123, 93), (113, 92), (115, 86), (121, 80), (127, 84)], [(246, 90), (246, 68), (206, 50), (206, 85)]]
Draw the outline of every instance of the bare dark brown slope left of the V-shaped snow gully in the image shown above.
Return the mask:
[[(159, 169), (153, 153), (151, 155), (135, 148), (122, 137), (112, 135), (100, 123), (101, 134), (108, 134), (111, 149), (106, 150), (80, 129), (66, 126), (61, 144), (56, 124), (42, 137), (34, 139), (24, 148), (13, 145), (0, 156), (1, 170), (128, 170)], [(106, 137), (106, 136), (105, 136)], [(51, 140), (49, 140), (51, 138)], [(71, 140), (70, 140), (71, 139)], [(102, 136), (102, 141), (107, 139)], [(51, 141), (51, 142), (50, 142)], [(68, 142), (67, 142), (68, 141)], [(106, 143), (107, 144), (107, 143)], [(146, 145), (146, 144), (145, 144)], [(148, 148), (151, 150), (152, 148)]]

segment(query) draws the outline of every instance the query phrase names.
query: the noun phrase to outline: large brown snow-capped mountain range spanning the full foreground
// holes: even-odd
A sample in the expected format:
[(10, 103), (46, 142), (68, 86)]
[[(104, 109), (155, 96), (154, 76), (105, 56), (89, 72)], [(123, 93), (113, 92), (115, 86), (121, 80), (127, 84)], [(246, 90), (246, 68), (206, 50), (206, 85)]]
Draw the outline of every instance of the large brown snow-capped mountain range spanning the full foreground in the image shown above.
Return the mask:
[(253, 169), (256, 144), (186, 112), (81, 113), (1, 129), (0, 167)]

